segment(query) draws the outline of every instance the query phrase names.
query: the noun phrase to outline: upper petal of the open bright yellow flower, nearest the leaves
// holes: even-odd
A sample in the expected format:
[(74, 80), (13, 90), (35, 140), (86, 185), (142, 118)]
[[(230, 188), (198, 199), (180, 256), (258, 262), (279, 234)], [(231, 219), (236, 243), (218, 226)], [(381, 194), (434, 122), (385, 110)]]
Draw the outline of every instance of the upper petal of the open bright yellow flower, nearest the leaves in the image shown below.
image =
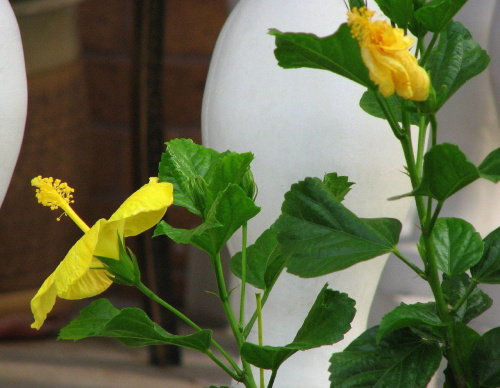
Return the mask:
[(109, 221), (124, 219), (124, 236), (136, 236), (160, 222), (174, 201), (173, 192), (171, 183), (151, 179), (128, 197)]

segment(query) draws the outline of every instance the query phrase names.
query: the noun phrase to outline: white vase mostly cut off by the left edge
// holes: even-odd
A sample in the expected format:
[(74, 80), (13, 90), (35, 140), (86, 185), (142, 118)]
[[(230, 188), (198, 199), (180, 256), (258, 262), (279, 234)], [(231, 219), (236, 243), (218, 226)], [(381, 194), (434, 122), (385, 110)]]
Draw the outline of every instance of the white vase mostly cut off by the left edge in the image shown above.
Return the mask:
[(9, 1), (0, 0), (0, 206), (21, 148), (27, 95), (19, 27)]

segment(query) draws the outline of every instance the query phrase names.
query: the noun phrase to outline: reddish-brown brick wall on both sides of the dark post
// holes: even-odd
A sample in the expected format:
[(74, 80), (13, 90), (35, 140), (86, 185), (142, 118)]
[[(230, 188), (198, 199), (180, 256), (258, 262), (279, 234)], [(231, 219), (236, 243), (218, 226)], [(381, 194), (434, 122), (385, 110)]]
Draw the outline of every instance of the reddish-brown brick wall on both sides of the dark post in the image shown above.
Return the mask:
[[(224, 0), (165, 0), (164, 137), (200, 142), (201, 102), (210, 56), (227, 17)], [(84, 0), (79, 29), (92, 122), (95, 219), (113, 212), (133, 190), (131, 161), (132, 0)], [(159, 160), (160, 155), (158, 155)], [(191, 228), (198, 220), (171, 208), (167, 219)], [(94, 221), (94, 220), (92, 220)], [(176, 298), (182, 301), (187, 247), (171, 248)]]

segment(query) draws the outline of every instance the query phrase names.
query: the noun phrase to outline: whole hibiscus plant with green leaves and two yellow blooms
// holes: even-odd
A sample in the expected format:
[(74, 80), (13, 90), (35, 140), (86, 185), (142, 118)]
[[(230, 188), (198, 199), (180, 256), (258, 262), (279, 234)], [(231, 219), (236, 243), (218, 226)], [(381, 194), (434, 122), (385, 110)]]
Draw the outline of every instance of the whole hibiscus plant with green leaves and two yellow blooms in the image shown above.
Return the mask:
[[(420, 264), (398, 249), (400, 221), (358, 218), (344, 206), (352, 183), (336, 173), (292, 185), (281, 216), (247, 247), (247, 222), (260, 210), (255, 205), (252, 154), (219, 153), (191, 140), (175, 139), (167, 143), (158, 177), (127, 199), (109, 220), (102, 219), (91, 228), (70, 207), (72, 189), (51, 178), (33, 179), (39, 201), (60, 207), (84, 233), (34, 297), (33, 327), (41, 327), (56, 297), (98, 295), (112, 282), (134, 286), (176, 314), (193, 332), (170, 334), (140, 309), (119, 310), (106, 299), (98, 299), (59, 337), (101, 336), (130, 346), (182, 346), (205, 353), (245, 387), (265, 386), (262, 378), (254, 377), (251, 365), (269, 369), (267, 387), (272, 387), (287, 358), (341, 340), (355, 314), (352, 299), (325, 285), (292, 343), (270, 347), (247, 342), (259, 308), (283, 270), (316, 277), (393, 253), (430, 287), (435, 300), (396, 307), (380, 325), (333, 354), (331, 386), (425, 387), (443, 359), (445, 387), (500, 386), (500, 328), (481, 335), (468, 326), (492, 304), (479, 285), (500, 283), (500, 228), (483, 238), (465, 220), (440, 217), (446, 200), (460, 189), (477, 179), (500, 180), (500, 149), (475, 166), (456, 145), (437, 142), (436, 120), (445, 102), (487, 67), (489, 57), (467, 28), (453, 20), (467, 0), (375, 1), (385, 17), (367, 9), (364, 0), (349, 0), (346, 23), (331, 36), (277, 30), (270, 34), (276, 39), (279, 66), (327, 70), (366, 87), (361, 107), (387, 120), (402, 146), (412, 190), (392, 200), (414, 199), (421, 231)], [(417, 144), (413, 144), (415, 139)], [(163, 221), (172, 204), (198, 215), (199, 226), (178, 229)], [(124, 238), (155, 225), (155, 236), (166, 235), (208, 253), (239, 360), (214, 340), (210, 330), (199, 327), (141, 282), (137, 260), (125, 247)], [(230, 264), (241, 279), (241, 287), (234, 292), (241, 294), (242, 307), (236, 312), (229, 303), (221, 250), (239, 230), (242, 251)], [(263, 293), (249, 321), (244, 320), (246, 283)]]

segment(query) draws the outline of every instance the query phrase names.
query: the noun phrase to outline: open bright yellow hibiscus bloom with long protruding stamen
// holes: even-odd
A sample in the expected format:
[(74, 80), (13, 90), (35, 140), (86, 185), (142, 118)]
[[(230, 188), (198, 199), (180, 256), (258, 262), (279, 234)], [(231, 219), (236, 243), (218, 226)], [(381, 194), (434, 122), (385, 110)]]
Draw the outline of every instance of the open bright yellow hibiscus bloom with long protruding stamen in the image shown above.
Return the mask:
[(111, 285), (110, 274), (95, 256), (118, 260), (119, 239), (138, 235), (156, 225), (173, 202), (173, 186), (150, 178), (150, 182), (127, 198), (109, 220), (100, 219), (88, 227), (71, 208), (74, 190), (66, 183), (38, 176), (31, 184), (37, 187), (39, 203), (52, 210), (61, 208), (84, 232), (31, 300), (35, 318), (31, 327), (40, 329), (57, 297), (89, 298)]

